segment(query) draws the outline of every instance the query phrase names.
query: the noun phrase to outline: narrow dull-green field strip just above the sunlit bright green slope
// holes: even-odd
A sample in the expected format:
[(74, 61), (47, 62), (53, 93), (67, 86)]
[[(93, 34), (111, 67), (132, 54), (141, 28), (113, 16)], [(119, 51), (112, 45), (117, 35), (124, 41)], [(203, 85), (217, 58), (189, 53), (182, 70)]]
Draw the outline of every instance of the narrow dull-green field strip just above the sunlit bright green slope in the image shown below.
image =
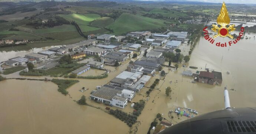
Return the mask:
[(92, 12), (96, 13), (111, 13), (111, 9), (104, 9), (104, 8), (98, 8), (98, 7), (71, 7), (66, 9), (67, 11), (72, 11), (73, 13), (79, 13), (79, 14), (88, 14)]

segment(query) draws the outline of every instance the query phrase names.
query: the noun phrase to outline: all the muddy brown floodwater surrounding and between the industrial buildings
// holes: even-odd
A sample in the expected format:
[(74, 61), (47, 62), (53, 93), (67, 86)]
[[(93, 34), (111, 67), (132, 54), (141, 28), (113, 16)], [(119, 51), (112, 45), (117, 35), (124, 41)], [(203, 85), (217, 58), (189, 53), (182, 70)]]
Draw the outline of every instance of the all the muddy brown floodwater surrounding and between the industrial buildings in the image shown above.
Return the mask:
[[(141, 99), (148, 100), (144, 110), (138, 117), (137, 133), (145, 134), (154, 120), (157, 113), (176, 124), (187, 119), (175, 116), (168, 116), (170, 110), (176, 107), (187, 107), (197, 110), (199, 114), (210, 111), (221, 110), (224, 108), (223, 91), (227, 86), (230, 94), (232, 107), (252, 107), (255, 106), (255, 81), (256, 63), (255, 61), (255, 34), (244, 35), (239, 43), (230, 47), (217, 47), (209, 43), (204, 37), (200, 38), (199, 43), (191, 54), (188, 63), (181, 63), (179, 68), (174, 71), (163, 67), (167, 75), (163, 78), (157, 74), (151, 77), (140, 93), (136, 94), (134, 102)], [(228, 42), (230, 38), (216, 38), (216, 42)], [(190, 46), (182, 44), (180, 49), (187, 55)], [(30, 50), (32, 51), (32, 50)], [(24, 51), (20, 52), (26, 53)], [(10, 57), (20, 56), (14, 52), (0, 52), (1, 60)], [(135, 61), (134, 59), (132, 59)], [(105, 112), (105, 105), (95, 103), (87, 99), (90, 106), (81, 106), (73, 100), (78, 100), (82, 95), (86, 98), (96, 86), (109, 83), (121, 71), (124, 71), (129, 64), (129, 60), (115, 68), (104, 66), (111, 70), (107, 78), (103, 79), (77, 79), (80, 82), (68, 88), (69, 96), (64, 96), (57, 91), (57, 85), (45, 81), (28, 80), (4, 80), (0, 82), (0, 133), (128, 133), (130, 128), (127, 124), (118, 120)], [(173, 63), (172, 63), (173, 64)], [(186, 67), (182, 67), (185, 64)], [(191, 69), (189, 66), (198, 67)], [(204, 71), (204, 68), (222, 72), (223, 83), (220, 85), (210, 85), (204, 83), (191, 83), (193, 77), (182, 76), (182, 72), (191, 70), (193, 73)], [(230, 72), (227, 74), (226, 72)], [(87, 74), (86, 74), (87, 73)], [(84, 76), (99, 75), (104, 73), (102, 70), (90, 70)], [(35, 76), (19, 76), (19, 73), (3, 75), (7, 78), (45, 78)], [(47, 77), (53, 78), (53, 77)], [(63, 77), (59, 77), (63, 78)], [(160, 78), (160, 83), (156, 86), (150, 96), (147, 97), (146, 91), (156, 78)], [(70, 78), (66, 78), (70, 79)], [(172, 84), (170, 83), (172, 81)], [(170, 86), (171, 96), (166, 97), (165, 88)], [(88, 91), (80, 92), (85, 87)], [(230, 90), (230, 89), (234, 90)], [(131, 103), (123, 110), (132, 113)], [(8, 107), (7, 107), (8, 106)], [(113, 107), (116, 109), (116, 107)], [(112, 128), (115, 129), (112, 129)], [(135, 129), (135, 128), (132, 128)]]

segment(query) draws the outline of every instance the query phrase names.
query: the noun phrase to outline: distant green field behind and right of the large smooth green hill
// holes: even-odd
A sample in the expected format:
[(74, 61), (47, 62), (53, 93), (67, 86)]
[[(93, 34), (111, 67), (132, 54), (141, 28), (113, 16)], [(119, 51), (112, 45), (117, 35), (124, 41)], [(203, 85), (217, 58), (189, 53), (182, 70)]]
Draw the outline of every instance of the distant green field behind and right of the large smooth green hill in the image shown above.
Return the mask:
[(178, 12), (175, 10), (164, 10), (164, 9), (152, 9), (149, 13), (155, 13), (155, 14), (161, 14), (163, 16), (167, 16), (167, 17), (184, 17), (187, 16), (187, 14), (182, 13), (182, 12)]

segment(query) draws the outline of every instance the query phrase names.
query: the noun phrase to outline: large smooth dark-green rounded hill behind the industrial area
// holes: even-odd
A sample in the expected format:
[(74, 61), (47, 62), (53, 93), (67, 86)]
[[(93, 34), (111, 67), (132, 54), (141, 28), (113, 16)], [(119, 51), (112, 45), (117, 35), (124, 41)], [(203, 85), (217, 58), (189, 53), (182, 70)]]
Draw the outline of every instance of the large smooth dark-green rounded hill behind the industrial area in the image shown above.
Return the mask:
[(163, 20), (123, 13), (108, 28), (113, 29), (115, 34), (122, 34), (129, 31), (158, 29), (165, 26)]

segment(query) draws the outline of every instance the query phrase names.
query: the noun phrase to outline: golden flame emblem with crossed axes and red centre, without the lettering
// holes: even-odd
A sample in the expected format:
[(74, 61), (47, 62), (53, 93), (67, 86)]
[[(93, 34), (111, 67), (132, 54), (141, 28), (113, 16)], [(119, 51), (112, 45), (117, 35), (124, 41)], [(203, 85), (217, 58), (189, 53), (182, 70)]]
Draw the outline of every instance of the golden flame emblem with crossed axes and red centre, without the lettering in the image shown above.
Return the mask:
[[(217, 17), (217, 23), (221, 27), (218, 27), (217, 25), (213, 24), (213, 28), (211, 30), (218, 33), (215, 36), (213, 36), (213, 38), (216, 38), (218, 36), (220, 36), (220, 37), (228, 36), (232, 39), (234, 38), (232, 35), (229, 34), (230, 32), (236, 30), (234, 28), (234, 24), (230, 25), (228, 28), (226, 27), (230, 23), (230, 18), (229, 18), (229, 12), (227, 11), (225, 2), (223, 2), (221, 10), (220, 10), (220, 14)], [(217, 30), (218, 30), (218, 32), (217, 32)]]

